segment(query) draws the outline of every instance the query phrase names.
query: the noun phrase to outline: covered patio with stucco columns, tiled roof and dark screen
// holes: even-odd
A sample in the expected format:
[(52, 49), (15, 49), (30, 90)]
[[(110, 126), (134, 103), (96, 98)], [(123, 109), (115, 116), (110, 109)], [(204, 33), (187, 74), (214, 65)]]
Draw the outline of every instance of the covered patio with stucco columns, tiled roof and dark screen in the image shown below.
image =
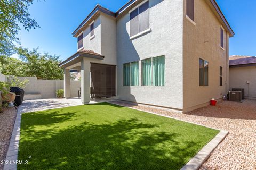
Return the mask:
[(59, 63), (64, 69), (64, 97), (70, 98), (70, 70), (81, 71), (81, 101), (116, 96), (116, 66), (103, 64), (104, 56), (93, 50), (80, 49)]

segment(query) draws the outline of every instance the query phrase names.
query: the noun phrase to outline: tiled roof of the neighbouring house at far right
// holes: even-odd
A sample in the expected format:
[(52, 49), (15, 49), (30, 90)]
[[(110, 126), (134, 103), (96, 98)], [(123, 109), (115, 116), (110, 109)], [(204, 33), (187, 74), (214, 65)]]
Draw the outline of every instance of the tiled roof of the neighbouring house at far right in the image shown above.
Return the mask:
[(253, 66), (256, 65), (255, 56), (230, 56), (229, 57), (229, 66)]

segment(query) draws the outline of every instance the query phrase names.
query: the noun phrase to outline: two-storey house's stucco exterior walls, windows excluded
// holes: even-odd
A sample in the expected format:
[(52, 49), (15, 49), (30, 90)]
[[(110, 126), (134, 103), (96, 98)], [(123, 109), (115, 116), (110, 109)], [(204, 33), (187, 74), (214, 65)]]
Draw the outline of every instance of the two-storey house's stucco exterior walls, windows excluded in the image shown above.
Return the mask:
[[(85, 66), (90, 67), (90, 63), (116, 65), (115, 98), (119, 100), (187, 112), (208, 105), (211, 98), (220, 99), (226, 95), (229, 87), (228, 39), (234, 32), (216, 2), (194, 1), (195, 20), (190, 21), (186, 16), (186, 0), (148, 0), (149, 29), (131, 37), (130, 12), (145, 2), (131, 0), (116, 13), (97, 5), (73, 32), (73, 36), (78, 37), (78, 32), (83, 31), (84, 49), (105, 56), (103, 60), (84, 57), (65, 67), (81, 66), (82, 77), (84, 75), (82, 96), (87, 95), (86, 101), (89, 100), (91, 84), (88, 83), (90, 71)], [(93, 21), (92, 38), (90, 23)], [(220, 46), (221, 27), (224, 30), (223, 48)], [(163, 55), (164, 86), (142, 86), (141, 60)], [(209, 86), (199, 86), (199, 58), (209, 62)], [(123, 64), (134, 61), (139, 62), (139, 85), (124, 86)]]

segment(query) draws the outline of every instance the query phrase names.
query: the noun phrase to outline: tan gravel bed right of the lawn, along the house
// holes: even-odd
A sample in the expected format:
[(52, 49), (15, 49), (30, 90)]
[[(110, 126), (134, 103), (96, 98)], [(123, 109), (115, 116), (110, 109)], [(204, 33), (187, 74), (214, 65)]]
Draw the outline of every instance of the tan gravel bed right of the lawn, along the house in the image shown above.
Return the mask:
[(243, 103), (222, 101), (217, 106), (206, 106), (186, 114), (119, 101), (113, 103), (229, 131), (201, 170), (256, 169), (256, 100), (246, 99)]

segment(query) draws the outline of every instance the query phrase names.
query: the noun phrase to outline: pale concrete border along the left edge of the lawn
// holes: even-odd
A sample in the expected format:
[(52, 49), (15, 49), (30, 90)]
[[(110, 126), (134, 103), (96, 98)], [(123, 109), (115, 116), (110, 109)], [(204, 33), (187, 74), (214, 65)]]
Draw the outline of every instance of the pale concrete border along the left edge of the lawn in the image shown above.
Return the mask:
[(18, 107), (17, 116), (15, 119), (15, 124), (12, 130), (12, 137), (9, 143), (9, 148), (5, 158), (4, 170), (14, 170), (17, 169), (16, 161), (18, 160), (18, 150), (20, 141), (20, 123), (21, 123), (21, 107)]

